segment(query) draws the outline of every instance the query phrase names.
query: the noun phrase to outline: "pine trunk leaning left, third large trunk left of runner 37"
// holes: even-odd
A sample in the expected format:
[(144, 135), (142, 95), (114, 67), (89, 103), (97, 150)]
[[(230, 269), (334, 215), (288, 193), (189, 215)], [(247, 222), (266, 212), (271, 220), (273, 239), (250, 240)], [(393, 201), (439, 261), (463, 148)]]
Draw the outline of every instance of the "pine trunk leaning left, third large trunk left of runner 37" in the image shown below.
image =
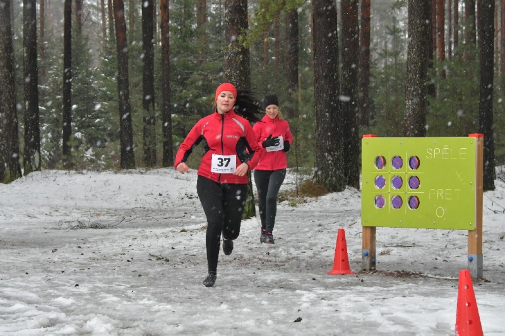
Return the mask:
[(121, 169), (135, 168), (133, 129), (131, 122), (130, 89), (128, 85), (128, 43), (123, 0), (113, 0), (118, 54), (118, 95), (121, 146)]

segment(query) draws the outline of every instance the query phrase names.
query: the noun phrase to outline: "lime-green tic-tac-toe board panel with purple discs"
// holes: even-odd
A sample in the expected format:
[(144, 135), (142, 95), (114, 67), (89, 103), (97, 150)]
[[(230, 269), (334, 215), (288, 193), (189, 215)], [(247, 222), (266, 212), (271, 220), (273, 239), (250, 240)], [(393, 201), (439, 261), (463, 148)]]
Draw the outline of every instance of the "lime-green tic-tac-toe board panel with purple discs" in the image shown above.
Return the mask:
[(474, 230), (476, 138), (363, 138), (362, 226)]

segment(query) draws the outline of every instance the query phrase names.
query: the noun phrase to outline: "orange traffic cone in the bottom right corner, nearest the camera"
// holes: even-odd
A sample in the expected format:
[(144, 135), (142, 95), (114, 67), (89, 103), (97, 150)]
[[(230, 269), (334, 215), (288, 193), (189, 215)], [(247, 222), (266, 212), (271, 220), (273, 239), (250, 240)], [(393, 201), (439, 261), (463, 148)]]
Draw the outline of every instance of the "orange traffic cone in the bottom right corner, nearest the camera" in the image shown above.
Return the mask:
[(475, 300), (472, 277), (468, 269), (460, 270), (458, 306), (456, 307), (456, 334), (458, 336), (482, 336), (479, 309)]

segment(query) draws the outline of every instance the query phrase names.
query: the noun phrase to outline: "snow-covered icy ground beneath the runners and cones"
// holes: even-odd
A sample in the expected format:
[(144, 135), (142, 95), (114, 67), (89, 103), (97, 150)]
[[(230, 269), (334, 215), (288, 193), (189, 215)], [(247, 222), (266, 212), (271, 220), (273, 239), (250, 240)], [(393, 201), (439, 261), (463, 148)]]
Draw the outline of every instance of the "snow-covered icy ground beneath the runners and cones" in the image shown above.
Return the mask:
[[(466, 231), (378, 228), (378, 272), (329, 275), (339, 228), (361, 268), (360, 192), (283, 202), (276, 244), (243, 221), (205, 288), (191, 172), (43, 171), (0, 184), (0, 334), (454, 334)], [(484, 194), (485, 280), (473, 282), (486, 336), (505, 334), (505, 183), (496, 187)]]

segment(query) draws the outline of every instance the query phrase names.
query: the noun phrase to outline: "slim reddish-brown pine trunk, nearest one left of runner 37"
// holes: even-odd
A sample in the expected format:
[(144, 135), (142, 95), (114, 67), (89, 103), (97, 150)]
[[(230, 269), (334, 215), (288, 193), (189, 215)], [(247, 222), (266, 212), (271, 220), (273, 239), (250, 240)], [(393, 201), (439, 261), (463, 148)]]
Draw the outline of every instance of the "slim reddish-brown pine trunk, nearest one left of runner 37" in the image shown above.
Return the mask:
[(161, 30), (161, 115), (163, 131), (163, 166), (174, 164), (172, 112), (170, 109), (170, 12), (169, 0), (160, 0)]

